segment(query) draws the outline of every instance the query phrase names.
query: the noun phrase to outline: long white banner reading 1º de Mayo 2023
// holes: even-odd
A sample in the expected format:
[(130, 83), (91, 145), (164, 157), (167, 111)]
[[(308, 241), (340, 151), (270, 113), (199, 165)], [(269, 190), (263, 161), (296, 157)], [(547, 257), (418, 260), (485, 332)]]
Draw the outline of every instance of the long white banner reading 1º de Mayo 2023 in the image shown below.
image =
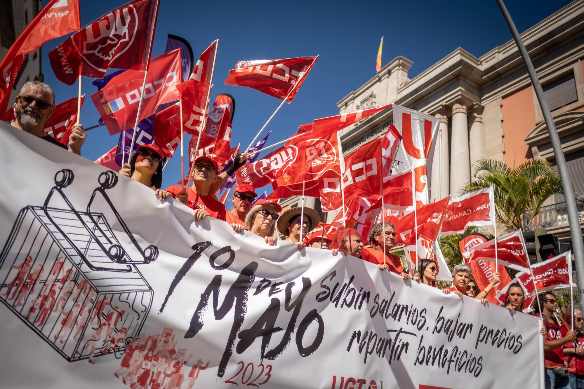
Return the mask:
[(543, 388), (537, 318), (193, 223), (5, 123), (0, 162), (1, 387)]

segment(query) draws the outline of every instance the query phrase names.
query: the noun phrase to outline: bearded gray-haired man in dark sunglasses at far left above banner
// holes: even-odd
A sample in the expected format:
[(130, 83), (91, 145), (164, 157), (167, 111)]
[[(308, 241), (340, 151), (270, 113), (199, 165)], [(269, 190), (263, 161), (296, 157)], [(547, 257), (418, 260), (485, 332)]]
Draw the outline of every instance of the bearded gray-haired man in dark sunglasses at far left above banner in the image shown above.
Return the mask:
[(85, 130), (79, 123), (75, 124), (69, 136), (69, 147), (61, 144), (44, 132), (47, 119), (55, 112), (55, 93), (50, 86), (40, 81), (27, 81), (20, 88), (14, 101), (16, 119), (12, 127), (19, 128), (29, 134), (42, 138), (69, 151), (81, 155), (81, 146), (85, 141)]

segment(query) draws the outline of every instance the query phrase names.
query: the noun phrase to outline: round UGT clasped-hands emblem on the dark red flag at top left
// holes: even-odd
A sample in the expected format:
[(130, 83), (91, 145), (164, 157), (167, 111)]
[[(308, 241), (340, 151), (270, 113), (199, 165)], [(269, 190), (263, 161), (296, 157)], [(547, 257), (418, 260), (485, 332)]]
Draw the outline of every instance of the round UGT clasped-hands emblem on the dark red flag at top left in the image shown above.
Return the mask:
[(85, 27), (83, 58), (101, 70), (103, 61), (113, 61), (133, 43), (138, 29), (138, 15), (133, 5), (116, 9)]

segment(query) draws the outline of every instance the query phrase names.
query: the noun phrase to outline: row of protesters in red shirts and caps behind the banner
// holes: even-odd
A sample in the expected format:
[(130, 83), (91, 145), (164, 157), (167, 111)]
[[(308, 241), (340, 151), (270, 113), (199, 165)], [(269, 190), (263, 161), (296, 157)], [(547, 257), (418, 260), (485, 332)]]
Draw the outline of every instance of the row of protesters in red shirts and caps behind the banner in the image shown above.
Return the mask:
[[(86, 134), (81, 124), (72, 127), (68, 146), (54, 140), (44, 131), (48, 117), (55, 111), (53, 89), (39, 81), (26, 82), (16, 96), (13, 111), (13, 127), (26, 131), (51, 144), (67, 148), (70, 152), (81, 155), (81, 147)], [(417, 282), (430, 287), (438, 287), (438, 264), (432, 259), (421, 259), (415, 265), (413, 273), (404, 270), (401, 258), (390, 251), (395, 243), (395, 226), (387, 222), (373, 225), (369, 239), (363, 241), (361, 233), (353, 228), (339, 230), (335, 238), (330, 239), (315, 235), (307, 237), (319, 223), (319, 213), (307, 207), (293, 207), (282, 212), (277, 202), (259, 199), (255, 189), (250, 185), (238, 185), (231, 196), (233, 209), (227, 211), (216, 193), (225, 181), (245, 164), (249, 154), (235, 156), (233, 164), (224, 171), (217, 162), (208, 156), (200, 156), (193, 161), (193, 184), (190, 187), (172, 185), (166, 189), (162, 186), (162, 164), (164, 153), (155, 144), (137, 147), (129, 163), (120, 169), (121, 175), (150, 187), (155, 196), (165, 201), (173, 197), (193, 209), (194, 220), (200, 222), (206, 217), (226, 221), (233, 230), (244, 230), (263, 238), (270, 246), (277, 245), (277, 232), (284, 241), (297, 245), (300, 251), (305, 247), (331, 250), (333, 255), (343, 252), (347, 256), (374, 263), (381, 271), (393, 272), (402, 277), (404, 282)], [(445, 294), (456, 294), (461, 298), (476, 298), (485, 302), (486, 296), (499, 283), (500, 275), (495, 273), (492, 281), (479, 291), (472, 279), (471, 269), (464, 264), (454, 266), (452, 270), (453, 286), (442, 289)], [(519, 283), (511, 284), (507, 290), (505, 306), (518, 314), (524, 312), (526, 294)], [(550, 292), (537, 296), (541, 307), (543, 326), (540, 333), (544, 336), (545, 388), (584, 389), (584, 332), (583, 317), (579, 310), (568, 308), (564, 315), (557, 309), (557, 299)], [(573, 318), (572, 318), (573, 312)], [(536, 316), (540, 316), (536, 314)], [(573, 323), (573, 324), (572, 324)], [(573, 326), (573, 327), (572, 327)]]

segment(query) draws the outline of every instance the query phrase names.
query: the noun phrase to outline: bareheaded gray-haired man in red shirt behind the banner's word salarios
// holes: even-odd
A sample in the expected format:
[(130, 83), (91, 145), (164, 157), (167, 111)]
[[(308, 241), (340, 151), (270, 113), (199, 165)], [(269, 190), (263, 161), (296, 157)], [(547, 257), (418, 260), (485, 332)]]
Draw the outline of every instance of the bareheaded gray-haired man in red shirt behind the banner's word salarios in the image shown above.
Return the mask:
[[(375, 263), (381, 270), (389, 270), (402, 276), (404, 281), (409, 280), (409, 274), (404, 272), (401, 258), (389, 252), (395, 242), (395, 225), (380, 221), (371, 229), (369, 240), (373, 243), (373, 247), (364, 247), (361, 258)], [(385, 252), (383, 252), (384, 249)]]

